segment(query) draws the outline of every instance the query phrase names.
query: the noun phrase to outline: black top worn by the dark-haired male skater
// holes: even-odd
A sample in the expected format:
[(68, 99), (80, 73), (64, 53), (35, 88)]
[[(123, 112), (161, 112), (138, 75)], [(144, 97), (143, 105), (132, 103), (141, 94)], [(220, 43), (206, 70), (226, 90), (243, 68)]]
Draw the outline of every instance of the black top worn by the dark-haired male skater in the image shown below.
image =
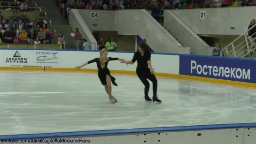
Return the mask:
[(132, 58), (132, 62), (134, 63), (137, 61), (138, 65), (136, 70), (148, 70), (147, 61), (151, 61), (151, 53), (149, 51), (145, 51), (144, 55), (142, 56), (140, 52), (135, 52)]

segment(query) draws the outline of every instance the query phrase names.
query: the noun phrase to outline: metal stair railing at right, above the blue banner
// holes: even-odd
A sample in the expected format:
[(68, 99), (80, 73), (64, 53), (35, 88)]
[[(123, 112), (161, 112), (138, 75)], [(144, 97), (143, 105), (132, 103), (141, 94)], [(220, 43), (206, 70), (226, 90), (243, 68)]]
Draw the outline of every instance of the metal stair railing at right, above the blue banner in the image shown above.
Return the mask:
[[(254, 52), (256, 49), (255, 39), (248, 36), (248, 32), (252, 30), (254, 26), (236, 38), (233, 42), (227, 45), (221, 52), (226, 53), (228, 57), (240, 57), (244, 58), (246, 56), (251, 56), (250, 53)], [(256, 33), (254, 33), (256, 34)]]

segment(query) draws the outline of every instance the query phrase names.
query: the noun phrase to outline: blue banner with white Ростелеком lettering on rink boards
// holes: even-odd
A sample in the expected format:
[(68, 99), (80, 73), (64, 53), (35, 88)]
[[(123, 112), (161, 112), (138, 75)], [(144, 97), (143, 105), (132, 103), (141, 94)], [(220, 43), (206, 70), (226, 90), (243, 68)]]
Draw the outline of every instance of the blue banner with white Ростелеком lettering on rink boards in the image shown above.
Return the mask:
[[(179, 56), (179, 74), (256, 83), (256, 60)], [(252, 75), (251, 75), (252, 74)]]

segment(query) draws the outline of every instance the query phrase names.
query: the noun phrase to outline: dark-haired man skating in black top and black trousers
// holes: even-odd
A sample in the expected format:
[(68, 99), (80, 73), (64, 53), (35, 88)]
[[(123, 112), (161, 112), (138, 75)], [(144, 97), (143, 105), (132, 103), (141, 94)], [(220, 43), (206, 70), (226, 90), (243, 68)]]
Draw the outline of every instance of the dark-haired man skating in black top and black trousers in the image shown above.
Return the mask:
[[(147, 44), (145, 41), (140, 41), (138, 44), (138, 51), (134, 53), (132, 61), (126, 61), (126, 64), (133, 64), (137, 61), (138, 65), (136, 68), (136, 74), (140, 78), (140, 81), (145, 85), (144, 93), (145, 100), (151, 102), (152, 99), (148, 97), (149, 83), (147, 79), (153, 82), (153, 102), (162, 103), (160, 99), (157, 98), (157, 80), (155, 77), (154, 68), (151, 65), (151, 53), (147, 50)], [(149, 68), (148, 68), (149, 66)]]

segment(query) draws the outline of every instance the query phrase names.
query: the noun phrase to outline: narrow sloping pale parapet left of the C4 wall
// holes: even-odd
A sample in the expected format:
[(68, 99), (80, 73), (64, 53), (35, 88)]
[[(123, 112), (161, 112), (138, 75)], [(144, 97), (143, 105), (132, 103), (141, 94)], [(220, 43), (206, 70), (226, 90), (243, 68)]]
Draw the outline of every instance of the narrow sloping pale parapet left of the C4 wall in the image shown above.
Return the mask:
[(93, 37), (92, 32), (89, 30), (81, 15), (79, 15), (77, 9), (71, 9), (69, 15), (70, 27), (75, 31), (75, 28), (78, 28), (81, 32), (82, 36), (87, 40), (90, 44), (92, 50), (97, 49), (97, 41)]

